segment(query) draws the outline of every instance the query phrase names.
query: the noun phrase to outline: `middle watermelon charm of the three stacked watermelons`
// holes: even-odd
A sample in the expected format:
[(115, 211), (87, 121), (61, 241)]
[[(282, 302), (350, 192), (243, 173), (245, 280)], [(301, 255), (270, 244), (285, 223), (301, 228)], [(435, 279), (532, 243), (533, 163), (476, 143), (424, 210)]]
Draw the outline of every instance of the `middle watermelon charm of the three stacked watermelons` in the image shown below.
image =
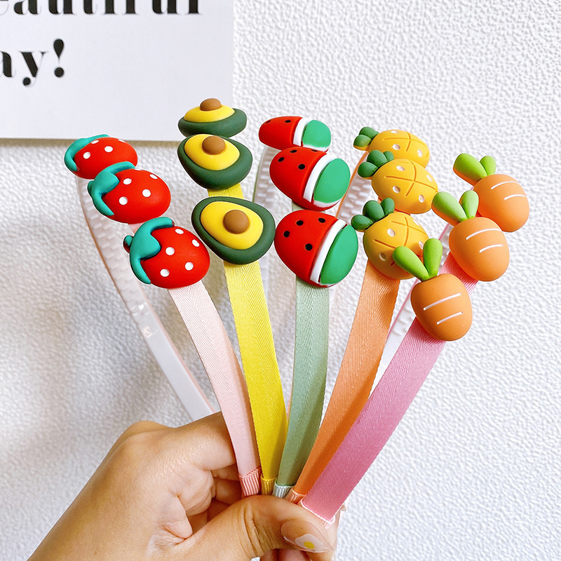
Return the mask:
[(281, 150), (271, 161), (271, 181), (297, 205), (325, 210), (349, 189), (351, 172), (340, 159), (313, 148)]

